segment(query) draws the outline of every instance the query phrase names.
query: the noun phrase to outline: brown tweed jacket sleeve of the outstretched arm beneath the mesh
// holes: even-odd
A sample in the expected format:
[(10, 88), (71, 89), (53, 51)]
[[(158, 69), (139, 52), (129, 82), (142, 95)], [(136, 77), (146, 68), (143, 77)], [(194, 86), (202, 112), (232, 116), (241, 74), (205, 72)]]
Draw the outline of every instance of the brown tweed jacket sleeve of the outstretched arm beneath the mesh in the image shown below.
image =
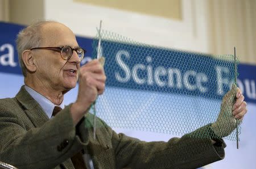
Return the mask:
[(112, 136), (117, 168), (197, 168), (225, 155), (223, 140), (212, 145), (211, 138), (201, 137), (212, 133), (210, 125), (168, 142), (144, 142), (106, 128)]

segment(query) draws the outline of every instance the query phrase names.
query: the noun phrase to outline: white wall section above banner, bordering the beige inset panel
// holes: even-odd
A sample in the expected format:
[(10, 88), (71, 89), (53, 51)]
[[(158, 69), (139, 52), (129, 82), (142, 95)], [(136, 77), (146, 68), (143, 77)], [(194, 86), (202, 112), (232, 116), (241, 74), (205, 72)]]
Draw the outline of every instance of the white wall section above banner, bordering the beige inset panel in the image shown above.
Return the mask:
[(102, 20), (103, 29), (135, 41), (208, 53), (206, 5), (204, 0), (183, 0), (183, 20), (176, 21), (72, 0), (45, 0), (45, 17), (67, 24), (79, 35), (96, 36)]

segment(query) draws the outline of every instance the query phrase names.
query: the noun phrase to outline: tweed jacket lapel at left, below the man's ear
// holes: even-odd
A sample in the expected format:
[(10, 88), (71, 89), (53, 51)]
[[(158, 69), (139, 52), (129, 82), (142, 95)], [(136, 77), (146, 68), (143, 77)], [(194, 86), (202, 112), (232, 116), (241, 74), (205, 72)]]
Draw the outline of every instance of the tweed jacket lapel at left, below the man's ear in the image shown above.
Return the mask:
[(40, 127), (49, 120), (39, 103), (28, 94), (24, 85), (20, 88), (15, 98), (23, 106), (24, 112), (35, 127)]

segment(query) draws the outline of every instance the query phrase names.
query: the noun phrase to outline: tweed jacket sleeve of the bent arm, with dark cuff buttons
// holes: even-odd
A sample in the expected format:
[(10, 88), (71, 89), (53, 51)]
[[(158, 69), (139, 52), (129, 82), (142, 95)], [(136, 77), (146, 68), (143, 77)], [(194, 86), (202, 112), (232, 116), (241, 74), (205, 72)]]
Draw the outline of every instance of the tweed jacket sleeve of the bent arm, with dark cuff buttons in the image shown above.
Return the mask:
[(0, 160), (18, 168), (54, 168), (81, 150), (88, 142), (76, 135), (70, 107), (27, 130), (28, 121), (20, 120), (14, 108), (0, 104)]

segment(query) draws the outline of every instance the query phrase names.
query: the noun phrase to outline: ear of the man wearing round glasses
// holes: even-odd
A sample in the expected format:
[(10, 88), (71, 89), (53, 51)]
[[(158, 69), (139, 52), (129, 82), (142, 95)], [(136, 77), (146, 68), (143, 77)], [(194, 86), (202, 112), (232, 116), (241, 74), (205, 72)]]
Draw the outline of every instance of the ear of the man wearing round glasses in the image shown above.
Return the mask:
[(32, 55), (31, 50), (23, 51), (22, 60), (28, 71), (30, 72), (36, 71), (35, 57)]

